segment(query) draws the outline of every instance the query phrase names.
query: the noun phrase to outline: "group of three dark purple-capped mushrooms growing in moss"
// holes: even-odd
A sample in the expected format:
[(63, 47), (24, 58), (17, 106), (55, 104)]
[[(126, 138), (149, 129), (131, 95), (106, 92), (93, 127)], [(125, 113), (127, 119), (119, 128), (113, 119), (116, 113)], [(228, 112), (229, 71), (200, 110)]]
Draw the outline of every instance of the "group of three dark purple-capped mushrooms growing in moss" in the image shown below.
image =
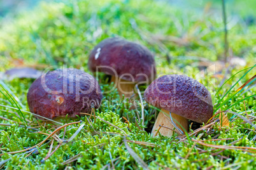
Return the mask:
[[(155, 79), (152, 53), (140, 44), (120, 38), (99, 42), (89, 56), (89, 70), (111, 75), (120, 96), (130, 98), (136, 84)], [(203, 84), (185, 75), (164, 75), (155, 79), (144, 93), (145, 100), (161, 108), (152, 134), (164, 136), (188, 131), (188, 119), (207, 122), (213, 114), (209, 91)], [(39, 119), (75, 118), (81, 112), (99, 108), (103, 95), (92, 75), (77, 69), (57, 69), (42, 74), (27, 93), (29, 109)], [(174, 119), (174, 121), (173, 121)]]

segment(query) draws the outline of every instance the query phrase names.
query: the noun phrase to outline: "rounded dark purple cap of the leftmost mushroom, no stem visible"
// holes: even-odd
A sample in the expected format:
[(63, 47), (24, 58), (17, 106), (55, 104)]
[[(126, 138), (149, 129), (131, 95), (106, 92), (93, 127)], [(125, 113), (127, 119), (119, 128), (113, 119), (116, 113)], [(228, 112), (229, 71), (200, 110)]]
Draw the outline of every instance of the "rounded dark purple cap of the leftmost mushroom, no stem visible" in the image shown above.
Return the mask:
[(99, 108), (102, 98), (96, 79), (77, 69), (47, 72), (31, 84), (27, 93), (29, 110), (48, 119), (90, 113), (92, 102), (94, 108)]

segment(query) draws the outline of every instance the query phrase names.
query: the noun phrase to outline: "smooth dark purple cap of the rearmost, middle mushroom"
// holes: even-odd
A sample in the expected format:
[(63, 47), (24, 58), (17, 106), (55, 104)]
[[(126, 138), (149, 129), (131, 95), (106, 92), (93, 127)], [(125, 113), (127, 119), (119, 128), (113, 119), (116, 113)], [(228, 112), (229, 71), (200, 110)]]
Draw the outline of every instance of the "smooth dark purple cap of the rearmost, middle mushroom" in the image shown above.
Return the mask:
[(145, 46), (117, 37), (99, 42), (90, 53), (88, 65), (92, 72), (122, 76), (120, 78), (125, 81), (133, 81), (132, 77), (135, 82), (155, 79), (152, 53)]

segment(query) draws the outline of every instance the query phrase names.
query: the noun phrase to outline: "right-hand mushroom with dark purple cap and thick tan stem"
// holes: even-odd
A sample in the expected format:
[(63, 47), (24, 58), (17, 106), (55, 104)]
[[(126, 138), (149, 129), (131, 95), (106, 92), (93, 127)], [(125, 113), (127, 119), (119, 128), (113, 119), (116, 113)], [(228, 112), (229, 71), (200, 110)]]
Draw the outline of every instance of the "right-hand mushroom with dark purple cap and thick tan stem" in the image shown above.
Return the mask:
[(188, 119), (203, 123), (213, 116), (210, 92), (203, 84), (186, 75), (164, 75), (155, 79), (145, 90), (144, 98), (150, 105), (161, 108), (152, 129), (153, 136), (159, 125), (167, 127), (160, 128), (159, 132), (170, 137), (173, 135), (170, 129), (176, 128), (175, 131), (181, 134), (188, 131)]

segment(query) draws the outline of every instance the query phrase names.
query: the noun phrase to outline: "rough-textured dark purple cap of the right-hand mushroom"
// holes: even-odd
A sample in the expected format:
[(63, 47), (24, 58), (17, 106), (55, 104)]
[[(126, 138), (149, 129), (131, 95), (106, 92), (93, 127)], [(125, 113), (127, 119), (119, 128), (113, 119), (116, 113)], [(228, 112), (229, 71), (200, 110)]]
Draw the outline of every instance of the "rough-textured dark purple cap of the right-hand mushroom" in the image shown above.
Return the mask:
[(154, 107), (199, 123), (213, 116), (210, 92), (186, 75), (164, 75), (155, 79), (145, 90), (144, 98)]

